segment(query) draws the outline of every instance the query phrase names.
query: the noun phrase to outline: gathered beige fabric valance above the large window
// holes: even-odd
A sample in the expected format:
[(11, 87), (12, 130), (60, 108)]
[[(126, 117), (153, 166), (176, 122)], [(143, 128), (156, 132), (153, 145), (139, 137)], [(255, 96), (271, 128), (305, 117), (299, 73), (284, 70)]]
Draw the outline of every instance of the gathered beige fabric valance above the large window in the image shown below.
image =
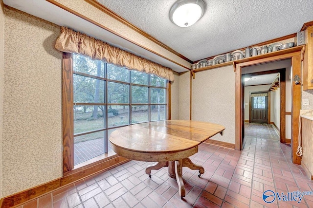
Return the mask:
[(62, 52), (82, 54), (130, 70), (145, 72), (174, 81), (174, 74), (170, 68), (66, 27), (61, 27), (61, 34), (57, 38), (55, 48)]

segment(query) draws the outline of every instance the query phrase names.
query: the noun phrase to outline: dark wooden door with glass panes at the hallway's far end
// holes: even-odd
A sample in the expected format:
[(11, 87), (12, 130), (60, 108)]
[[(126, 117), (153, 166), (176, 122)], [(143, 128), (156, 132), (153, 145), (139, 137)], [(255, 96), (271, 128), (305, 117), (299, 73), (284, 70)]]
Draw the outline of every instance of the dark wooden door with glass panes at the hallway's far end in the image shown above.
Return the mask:
[(251, 97), (251, 123), (268, 123), (268, 97)]

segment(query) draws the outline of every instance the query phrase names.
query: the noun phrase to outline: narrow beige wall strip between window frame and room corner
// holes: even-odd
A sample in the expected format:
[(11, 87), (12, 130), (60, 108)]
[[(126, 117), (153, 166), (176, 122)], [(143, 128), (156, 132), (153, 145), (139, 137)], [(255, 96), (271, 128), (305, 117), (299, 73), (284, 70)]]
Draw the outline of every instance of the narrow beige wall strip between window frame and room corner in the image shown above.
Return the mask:
[(175, 81), (171, 83), (171, 118), (179, 119), (179, 74), (174, 72)]

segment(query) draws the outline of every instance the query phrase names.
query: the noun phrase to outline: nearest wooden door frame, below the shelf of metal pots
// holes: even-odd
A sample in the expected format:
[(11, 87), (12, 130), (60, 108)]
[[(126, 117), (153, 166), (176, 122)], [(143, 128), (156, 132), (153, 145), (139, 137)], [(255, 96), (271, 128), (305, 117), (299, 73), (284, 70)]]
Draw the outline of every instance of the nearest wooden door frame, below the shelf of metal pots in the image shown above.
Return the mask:
[[(302, 47), (297, 52), (291, 52), (288, 54), (272, 56), (267, 58), (261, 58), (251, 60), (243, 63), (234, 63), (235, 68), (235, 149), (242, 149), (242, 135), (243, 135), (243, 79), (242, 79), (242, 67), (253, 66), (261, 63), (268, 63), (273, 61), (279, 61), (291, 58), (292, 76), (301, 76), (301, 61), (303, 60), (303, 53), (305, 47)], [(301, 50), (301, 51), (300, 51)], [(296, 155), (298, 140), (296, 139), (299, 133), (299, 114), (301, 109), (301, 85), (296, 85), (292, 82), (291, 85), (291, 161), (295, 164), (301, 164), (301, 157)], [(283, 112), (285, 115), (285, 110)], [(281, 114), (281, 118), (282, 118)]]

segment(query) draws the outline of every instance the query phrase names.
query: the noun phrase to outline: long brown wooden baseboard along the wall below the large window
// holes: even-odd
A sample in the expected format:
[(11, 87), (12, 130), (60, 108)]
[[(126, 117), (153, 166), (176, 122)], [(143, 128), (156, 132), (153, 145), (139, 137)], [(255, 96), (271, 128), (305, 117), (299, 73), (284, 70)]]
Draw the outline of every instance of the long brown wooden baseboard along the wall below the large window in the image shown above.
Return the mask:
[(38, 198), (43, 194), (47, 194), (51, 191), (62, 188), (63, 186), (66, 186), (78, 180), (84, 179), (97, 172), (112, 169), (128, 161), (130, 160), (125, 157), (117, 155), (114, 158), (106, 160), (102, 163), (98, 163), (86, 169), (74, 172), (73, 174), (68, 174), (64, 177), (55, 179), (53, 181), (47, 182), (37, 187), (23, 190), (21, 192), (4, 197), (0, 201), (0, 203), (2, 202), (2, 204), (0, 204), (1, 205), (0, 208), (11, 208), (11, 207), (18, 206), (20, 204), (24, 204), (25, 202)]

